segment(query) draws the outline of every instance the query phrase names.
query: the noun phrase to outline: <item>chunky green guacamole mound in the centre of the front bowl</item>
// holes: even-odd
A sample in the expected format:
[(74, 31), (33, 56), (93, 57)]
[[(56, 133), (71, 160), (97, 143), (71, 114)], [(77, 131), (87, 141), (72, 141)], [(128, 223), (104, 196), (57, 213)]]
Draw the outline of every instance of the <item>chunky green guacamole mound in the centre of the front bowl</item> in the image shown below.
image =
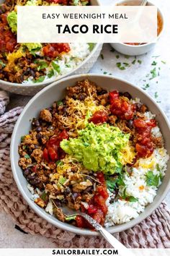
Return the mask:
[(114, 174), (120, 172), (124, 164), (133, 161), (135, 153), (130, 146), (130, 135), (119, 128), (90, 123), (78, 133), (76, 139), (63, 140), (61, 148), (87, 169)]

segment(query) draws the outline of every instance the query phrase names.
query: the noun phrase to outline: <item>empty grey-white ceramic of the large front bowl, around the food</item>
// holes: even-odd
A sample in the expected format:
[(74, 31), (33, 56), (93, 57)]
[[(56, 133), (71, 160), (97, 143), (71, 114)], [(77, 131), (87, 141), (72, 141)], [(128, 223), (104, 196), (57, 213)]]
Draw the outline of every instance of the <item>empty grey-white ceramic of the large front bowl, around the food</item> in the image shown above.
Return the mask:
[[(35, 212), (45, 218), (46, 221), (52, 223), (60, 229), (64, 229), (66, 231), (71, 231), (76, 234), (84, 234), (84, 235), (97, 235), (98, 233), (95, 231), (90, 231), (88, 229), (79, 229), (75, 226), (71, 226), (68, 223), (62, 223), (58, 221), (54, 216), (50, 216), (45, 212), (42, 208), (35, 204), (31, 200), (31, 193), (27, 189), (27, 180), (24, 178), (22, 174), (22, 169), (18, 166), (19, 154), (18, 154), (18, 145), (20, 143), (20, 139), (22, 135), (25, 135), (30, 130), (30, 121), (33, 117), (38, 116), (40, 110), (42, 108), (47, 108), (53, 104), (54, 101), (59, 101), (65, 95), (66, 87), (69, 85), (74, 85), (77, 81), (89, 79), (102, 88), (106, 88), (107, 90), (120, 90), (120, 91), (128, 91), (133, 98), (140, 98), (141, 102), (146, 104), (148, 108), (151, 110), (153, 114), (156, 114), (156, 120), (158, 121), (159, 127), (161, 128), (161, 132), (164, 136), (165, 147), (170, 154), (170, 132), (169, 132), (169, 123), (168, 120), (161, 111), (161, 108), (151, 99), (149, 95), (143, 92), (143, 90), (136, 88), (130, 82), (122, 80), (120, 78), (107, 76), (107, 75), (99, 75), (99, 74), (81, 74), (75, 75), (72, 77), (66, 77), (63, 80), (59, 80), (57, 82), (53, 82), (53, 84), (41, 90), (37, 95), (35, 95), (27, 106), (25, 106), (22, 114), (19, 116), (17, 124), (14, 127), (14, 132), (12, 135), (11, 142), (11, 165), (12, 172), (14, 175), (15, 182), (17, 183), (17, 187), (21, 192), (24, 200), (30, 205), (30, 207), (35, 210)], [(166, 193), (170, 188), (170, 163), (168, 164), (168, 169), (166, 171), (166, 176), (163, 179), (161, 186), (158, 188), (157, 195), (154, 198), (153, 202), (146, 207), (143, 213), (138, 216), (138, 218), (133, 219), (129, 223), (125, 223), (122, 225), (117, 225), (110, 227), (108, 229), (109, 232), (115, 233), (124, 231), (125, 229), (129, 229), (130, 227), (135, 226), (137, 223), (140, 223), (151, 215), (153, 210), (158, 208), (158, 205), (164, 200)]]

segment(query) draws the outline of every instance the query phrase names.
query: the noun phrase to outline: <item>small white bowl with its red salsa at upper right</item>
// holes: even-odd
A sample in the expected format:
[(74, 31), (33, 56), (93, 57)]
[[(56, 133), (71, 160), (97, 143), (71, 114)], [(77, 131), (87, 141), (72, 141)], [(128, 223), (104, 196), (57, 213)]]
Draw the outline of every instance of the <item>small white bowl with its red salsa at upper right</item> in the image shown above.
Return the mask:
[[(117, 6), (140, 6), (142, 0), (124, 0), (118, 2)], [(146, 6), (153, 6), (150, 1), (146, 4)], [(157, 41), (161, 37), (161, 34), (164, 30), (164, 17), (161, 10), (158, 8), (157, 14)], [(120, 52), (120, 54), (125, 54), (129, 56), (138, 56), (142, 54), (146, 54), (148, 51), (151, 51), (156, 43), (111, 43), (111, 46), (115, 48), (116, 51)]]

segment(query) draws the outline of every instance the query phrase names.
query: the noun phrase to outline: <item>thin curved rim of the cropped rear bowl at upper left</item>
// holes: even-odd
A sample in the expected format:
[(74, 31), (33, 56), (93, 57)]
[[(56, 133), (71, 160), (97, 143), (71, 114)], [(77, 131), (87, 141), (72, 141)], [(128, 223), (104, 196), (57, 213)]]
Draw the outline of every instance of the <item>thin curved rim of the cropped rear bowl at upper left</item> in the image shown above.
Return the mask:
[[(92, 5), (92, 6), (101, 6), (99, 0), (93, 0), (96, 2), (96, 5)], [(45, 81), (45, 82), (36, 82), (36, 83), (17, 83), (17, 82), (8, 82), (8, 81), (4, 81), (4, 80), (0, 80), (0, 84), (4, 84), (4, 85), (9, 85), (9, 86), (15, 86), (18, 88), (24, 88), (26, 86), (28, 87), (35, 87), (38, 88), (39, 86), (42, 85), (49, 85), (52, 82), (57, 82), (58, 80), (61, 80), (67, 76), (69, 76), (71, 73), (76, 72), (77, 69), (81, 68), (84, 64), (86, 64), (87, 61), (89, 61), (89, 59), (91, 59), (91, 56), (93, 56), (94, 52), (97, 51), (97, 48), (99, 48), (99, 46), (102, 46), (102, 43), (96, 43), (93, 50), (90, 52), (90, 54), (86, 57), (86, 59), (84, 59), (84, 61), (81, 62), (81, 64), (79, 64), (77, 67), (75, 67), (75, 69), (72, 69), (70, 72), (66, 73), (66, 74), (62, 74), (61, 76), (55, 77), (53, 80), (50, 81)]]

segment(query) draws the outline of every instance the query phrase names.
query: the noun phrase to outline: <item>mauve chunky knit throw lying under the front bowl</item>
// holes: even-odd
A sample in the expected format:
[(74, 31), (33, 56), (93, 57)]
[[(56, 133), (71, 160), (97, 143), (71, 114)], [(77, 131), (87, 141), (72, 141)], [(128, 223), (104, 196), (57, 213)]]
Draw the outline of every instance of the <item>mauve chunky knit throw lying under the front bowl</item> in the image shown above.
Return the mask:
[[(30, 209), (20, 195), (12, 176), (9, 158), (9, 145), (14, 124), (22, 112), (22, 107), (5, 113), (9, 95), (0, 91), (0, 210), (4, 210), (24, 231), (40, 234), (54, 242), (54, 247), (109, 247), (100, 236), (79, 236), (57, 229)], [(17, 147), (17, 145), (16, 145)], [(170, 213), (163, 202), (151, 216), (140, 224), (119, 234), (117, 239), (132, 248), (170, 248)]]

